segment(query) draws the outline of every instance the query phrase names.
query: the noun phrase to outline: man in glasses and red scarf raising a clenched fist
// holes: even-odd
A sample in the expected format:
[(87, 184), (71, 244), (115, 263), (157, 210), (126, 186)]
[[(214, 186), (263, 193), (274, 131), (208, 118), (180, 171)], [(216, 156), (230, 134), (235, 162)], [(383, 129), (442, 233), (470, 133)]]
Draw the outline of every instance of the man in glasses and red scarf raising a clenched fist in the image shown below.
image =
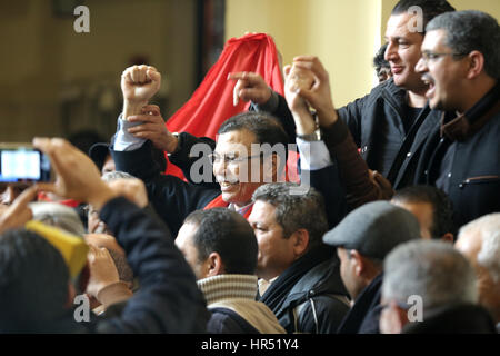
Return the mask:
[[(277, 181), (284, 167), (288, 136), (283, 128), (269, 115), (243, 112), (222, 123), (214, 149), (209, 139), (186, 132), (176, 137), (164, 128), (158, 107), (147, 105), (160, 80), (153, 67), (134, 66), (123, 72), (123, 113), (111, 149), (117, 170), (146, 182), (151, 204), (173, 236), (194, 210), (228, 207), (248, 217), (253, 191)], [(263, 144), (270, 149), (263, 149)], [(162, 175), (151, 146), (171, 154), (171, 159), (177, 155), (188, 160), (176, 164), (184, 167), (191, 182)]]

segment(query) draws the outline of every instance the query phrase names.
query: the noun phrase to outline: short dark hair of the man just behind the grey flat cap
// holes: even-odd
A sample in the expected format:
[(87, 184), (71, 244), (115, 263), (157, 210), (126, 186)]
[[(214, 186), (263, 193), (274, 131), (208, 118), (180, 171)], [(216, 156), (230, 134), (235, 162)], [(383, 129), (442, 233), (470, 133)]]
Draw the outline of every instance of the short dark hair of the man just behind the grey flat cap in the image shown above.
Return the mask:
[(456, 236), (453, 224), (453, 205), (448, 195), (432, 186), (410, 186), (396, 192), (392, 199), (404, 202), (428, 202), (432, 206), (432, 238), (439, 239), (444, 234)]

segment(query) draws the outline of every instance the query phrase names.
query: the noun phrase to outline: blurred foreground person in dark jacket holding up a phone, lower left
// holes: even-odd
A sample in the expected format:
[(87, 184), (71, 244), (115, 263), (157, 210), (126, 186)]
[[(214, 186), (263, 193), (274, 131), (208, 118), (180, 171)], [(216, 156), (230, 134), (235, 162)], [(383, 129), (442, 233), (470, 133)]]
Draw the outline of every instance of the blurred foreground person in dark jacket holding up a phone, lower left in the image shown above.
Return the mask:
[[(110, 188), (103, 182), (90, 158), (67, 141), (36, 139), (33, 144), (51, 158), (58, 175), (54, 184), (40, 184), (38, 188), (87, 201), (99, 210), (126, 250), (141, 291), (128, 300), (117, 317), (78, 323), (73, 316), (74, 294), (69, 291), (72, 290), (68, 288), (69, 271), (61, 254), (33, 233), (9, 230), (0, 238), (0, 330), (204, 333), (209, 314), (203, 297), (169, 230), (120, 197), (128, 195), (128, 189)], [(146, 195), (141, 187), (141, 194)], [(24, 200), (12, 206), (16, 214), (7, 211), (1, 216), (0, 231), (13, 225), (22, 226), (22, 217), (29, 219), (26, 214), (29, 199)]]

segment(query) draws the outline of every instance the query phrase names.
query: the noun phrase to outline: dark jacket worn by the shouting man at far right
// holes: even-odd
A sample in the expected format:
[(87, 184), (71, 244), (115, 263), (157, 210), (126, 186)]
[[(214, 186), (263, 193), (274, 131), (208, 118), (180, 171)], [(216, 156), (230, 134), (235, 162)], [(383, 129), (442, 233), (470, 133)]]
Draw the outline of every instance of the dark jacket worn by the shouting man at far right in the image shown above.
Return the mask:
[[(500, 83), (461, 117), (442, 116), (442, 126), (430, 134), (416, 184), (437, 185), (448, 172), (456, 227), (500, 211)], [(443, 157), (454, 155), (443, 171)], [(446, 166), (446, 165), (444, 165)], [(438, 185), (439, 187), (439, 185)]]

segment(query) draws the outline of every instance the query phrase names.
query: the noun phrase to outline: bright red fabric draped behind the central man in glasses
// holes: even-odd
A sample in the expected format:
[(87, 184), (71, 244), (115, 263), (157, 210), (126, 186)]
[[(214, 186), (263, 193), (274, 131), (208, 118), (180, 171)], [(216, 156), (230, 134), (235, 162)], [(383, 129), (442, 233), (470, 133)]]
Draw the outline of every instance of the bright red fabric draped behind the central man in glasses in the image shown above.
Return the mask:
[[(191, 99), (167, 120), (167, 128), (171, 132), (216, 139), (223, 121), (247, 111), (250, 106), (241, 100), (236, 107), (232, 105), (236, 82), (228, 80), (228, 75), (241, 71), (261, 75), (276, 92), (283, 95), (283, 78), (272, 38), (266, 33), (232, 38)], [(168, 166), (167, 174), (182, 177), (180, 169), (173, 165)]]

